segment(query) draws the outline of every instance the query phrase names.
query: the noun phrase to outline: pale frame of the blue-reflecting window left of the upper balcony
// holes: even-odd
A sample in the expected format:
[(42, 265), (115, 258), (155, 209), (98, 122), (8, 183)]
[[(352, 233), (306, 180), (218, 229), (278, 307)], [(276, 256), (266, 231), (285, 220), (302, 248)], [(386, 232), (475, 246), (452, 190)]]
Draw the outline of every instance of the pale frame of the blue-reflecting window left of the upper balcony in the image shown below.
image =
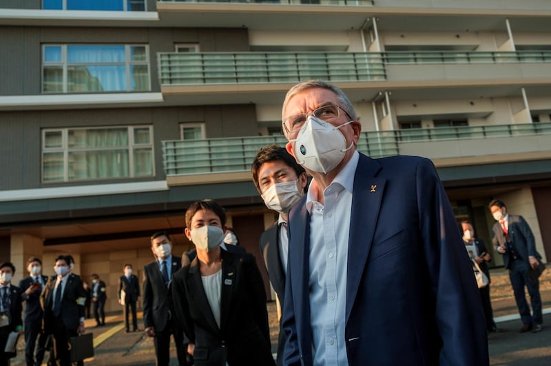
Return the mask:
[[(79, 45), (79, 46), (117, 46), (117, 45), (123, 45), (125, 46), (125, 82), (126, 87), (125, 90), (113, 90), (113, 91), (107, 91), (107, 92), (98, 92), (98, 91), (90, 91), (90, 92), (69, 92), (68, 89), (68, 67), (78, 65), (121, 65), (121, 62), (114, 62), (114, 63), (68, 63), (67, 61), (67, 46), (72, 45)], [(61, 61), (45, 61), (45, 55), (46, 55), (46, 47), (61, 47)], [(132, 54), (131, 50), (132, 47), (144, 47), (145, 48), (145, 60), (144, 61), (132, 61)], [(121, 44), (121, 43), (102, 43), (102, 44), (96, 44), (96, 43), (42, 43), (41, 45), (41, 94), (110, 94), (110, 93), (143, 93), (143, 92), (151, 92), (152, 91), (152, 80), (151, 80), (151, 60), (149, 58), (149, 45), (147, 44), (138, 44), (138, 43), (132, 43), (132, 44)], [(132, 73), (130, 71), (130, 68), (132, 66), (147, 66), (147, 89), (136, 89), (132, 90)], [(48, 66), (61, 66), (62, 69), (62, 90), (56, 90), (51, 92), (46, 92), (44, 90), (44, 84), (45, 84), (45, 78), (44, 78), (44, 70), (45, 67)]]

